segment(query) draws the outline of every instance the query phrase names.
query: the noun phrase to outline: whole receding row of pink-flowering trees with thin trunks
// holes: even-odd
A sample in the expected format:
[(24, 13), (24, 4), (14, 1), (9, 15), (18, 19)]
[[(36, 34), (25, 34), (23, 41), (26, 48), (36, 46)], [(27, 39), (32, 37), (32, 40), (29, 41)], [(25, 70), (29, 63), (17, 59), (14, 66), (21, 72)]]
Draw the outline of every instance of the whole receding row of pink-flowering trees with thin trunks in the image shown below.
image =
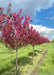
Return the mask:
[[(2, 8), (0, 9), (2, 10)], [(9, 10), (8, 10), (9, 11)], [(50, 42), (48, 38), (41, 36), (33, 27), (29, 26), (29, 22), (33, 20), (30, 16), (20, 16), (22, 9), (18, 13), (0, 14), (0, 31), (1, 39), (6, 45), (16, 50), (16, 72), (17, 75), (17, 57), (18, 49), (31, 44), (33, 47), (33, 59), (34, 59), (34, 46), (43, 43)]]

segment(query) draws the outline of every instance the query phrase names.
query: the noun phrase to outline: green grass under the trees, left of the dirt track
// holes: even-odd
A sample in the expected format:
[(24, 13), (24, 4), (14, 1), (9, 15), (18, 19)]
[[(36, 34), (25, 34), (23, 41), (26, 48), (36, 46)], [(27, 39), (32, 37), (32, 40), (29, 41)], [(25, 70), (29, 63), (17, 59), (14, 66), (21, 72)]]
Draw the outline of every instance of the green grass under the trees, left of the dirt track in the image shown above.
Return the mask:
[[(33, 48), (31, 45), (22, 47), (18, 51), (18, 68), (19, 73), (23, 75), (30, 75), (34, 68), (36, 67), (38, 60), (41, 58), (42, 54), (38, 53), (38, 50), (45, 51), (47, 44), (42, 44), (40, 47), (36, 45), (34, 47), (35, 58), (32, 60)], [(15, 75), (15, 60), (16, 52), (5, 47), (4, 44), (0, 43), (0, 75)], [(34, 65), (32, 65), (32, 62)]]

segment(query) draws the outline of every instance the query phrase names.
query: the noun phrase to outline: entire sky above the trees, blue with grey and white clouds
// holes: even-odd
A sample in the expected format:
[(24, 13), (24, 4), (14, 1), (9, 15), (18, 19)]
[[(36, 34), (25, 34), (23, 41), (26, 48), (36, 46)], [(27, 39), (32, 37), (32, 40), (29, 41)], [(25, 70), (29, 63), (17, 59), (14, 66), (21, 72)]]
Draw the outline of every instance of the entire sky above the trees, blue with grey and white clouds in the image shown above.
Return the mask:
[(0, 7), (7, 6), (11, 2), (12, 12), (23, 9), (22, 14), (28, 14), (33, 19), (30, 23), (41, 35), (54, 39), (54, 0), (0, 0)]

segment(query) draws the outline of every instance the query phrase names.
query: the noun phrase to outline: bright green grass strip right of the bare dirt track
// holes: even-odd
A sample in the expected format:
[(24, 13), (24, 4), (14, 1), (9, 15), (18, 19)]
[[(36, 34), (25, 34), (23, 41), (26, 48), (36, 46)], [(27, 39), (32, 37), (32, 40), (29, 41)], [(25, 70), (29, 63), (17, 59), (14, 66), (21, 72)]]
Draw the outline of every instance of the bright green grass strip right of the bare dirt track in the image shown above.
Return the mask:
[(46, 73), (48, 73), (47, 75), (54, 75), (54, 47), (52, 43), (49, 44), (48, 53), (41, 64), (38, 75), (41, 75), (41, 73), (43, 75), (46, 75)]

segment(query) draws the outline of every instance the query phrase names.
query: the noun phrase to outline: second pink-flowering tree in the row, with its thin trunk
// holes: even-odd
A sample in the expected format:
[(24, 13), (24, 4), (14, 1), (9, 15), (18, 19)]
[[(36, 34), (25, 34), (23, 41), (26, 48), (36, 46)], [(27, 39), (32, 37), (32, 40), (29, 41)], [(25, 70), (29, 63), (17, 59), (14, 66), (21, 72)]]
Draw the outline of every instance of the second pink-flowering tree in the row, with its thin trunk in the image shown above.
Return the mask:
[(26, 41), (28, 44), (31, 44), (33, 47), (33, 60), (34, 60), (34, 46), (39, 43), (39, 36), (40, 34), (33, 29), (33, 26), (28, 28), (28, 35), (26, 35)]

